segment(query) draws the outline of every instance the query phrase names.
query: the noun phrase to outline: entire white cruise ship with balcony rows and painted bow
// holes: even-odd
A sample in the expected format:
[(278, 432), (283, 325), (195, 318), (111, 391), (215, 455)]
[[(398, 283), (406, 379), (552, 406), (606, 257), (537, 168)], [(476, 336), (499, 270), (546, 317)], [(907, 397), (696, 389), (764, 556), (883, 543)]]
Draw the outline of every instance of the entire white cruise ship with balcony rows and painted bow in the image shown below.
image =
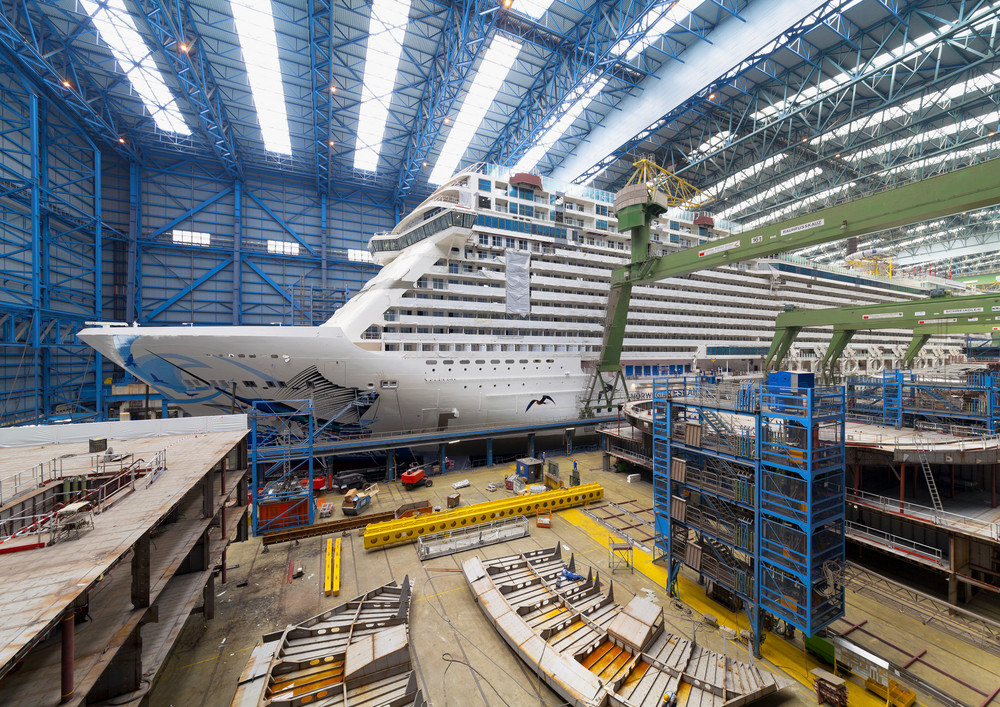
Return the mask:
[[(611, 271), (630, 258), (613, 201), (477, 166), (372, 237), (382, 269), (321, 326), (103, 325), (80, 338), (196, 413), (312, 398), (319, 417), (352, 430), (569, 419), (586, 404)], [(653, 254), (700, 246), (728, 228), (672, 210), (653, 225)], [(653, 375), (753, 371), (788, 306), (909, 299), (940, 285), (777, 257), (637, 286), (624, 373), (639, 392)], [(908, 340), (859, 333), (843, 366), (898, 366)], [(828, 341), (828, 332), (804, 332), (787, 367), (811, 370)], [(958, 342), (932, 342), (915, 367), (959, 355)]]

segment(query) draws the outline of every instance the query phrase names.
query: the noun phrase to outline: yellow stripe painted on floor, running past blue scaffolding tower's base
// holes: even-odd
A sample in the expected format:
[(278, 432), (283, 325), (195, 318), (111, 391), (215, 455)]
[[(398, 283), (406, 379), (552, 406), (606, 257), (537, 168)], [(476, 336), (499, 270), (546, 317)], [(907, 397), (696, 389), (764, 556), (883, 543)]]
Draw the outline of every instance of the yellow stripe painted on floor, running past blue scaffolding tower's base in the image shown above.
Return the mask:
[[(569, 508), (560, 511), (559, 515), (607, 548), (607, 538), (612, 532), (608, 528), (589, 516), (584, 515), (578, 508)], [(666, 595), (666, 566), (654, 563), (652, 556), (649, 553), (643, 552), (638, 547), (633, 552), (633, 566), (636, 572), (657, 586), (660, 594)], [(678, 579), (677, 593), (677, 598), (683, 603), (690, 606), (699, 614), (712, 614), (719, 620), (720, 625), (728, 626), (736, 631), (747, 627), (748, 621), (745, 614), (741, 614), (742, 622), (740, 622), (735, 614), (706, 597), (705, 590), (702, 587), (699, 587), (683, 575)], [(733, 641), (729, 642), (729, 645), (733, 644)], [(736, 645), (746, 652), (746, 647), (743, 644)], [(760, 650), (765, 660), (789, 677), (805, 685), (810, 691), (813, 690), (813, 680), (812, 676), (809, 675), (809, 671), (817, 667), (826, 667), (825, 664), (820, 663), (813, 656), (799, 650), (798, 647), (774, 633), (768, 634), (767, 640), (761, 645)], [(851, 707), (867, 707), (868, 705), (871, 705), (871, 707), (884, 707), (885, 705), (885, 700), (879, 699), (864, 687), (851, 681), (847, 682), (847, 692), (848, 702)]]

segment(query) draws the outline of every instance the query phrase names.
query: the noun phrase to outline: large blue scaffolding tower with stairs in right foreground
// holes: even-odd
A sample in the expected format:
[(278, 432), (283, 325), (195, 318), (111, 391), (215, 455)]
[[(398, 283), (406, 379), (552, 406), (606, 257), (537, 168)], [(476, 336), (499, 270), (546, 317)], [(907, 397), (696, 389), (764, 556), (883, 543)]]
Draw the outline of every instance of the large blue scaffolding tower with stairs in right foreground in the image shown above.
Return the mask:
[[(783, 377), (782, 377), (783, 376)], [(814, 635), (843, 615), (843, 388), (654, 381), (655, 543), (750, 619)]]

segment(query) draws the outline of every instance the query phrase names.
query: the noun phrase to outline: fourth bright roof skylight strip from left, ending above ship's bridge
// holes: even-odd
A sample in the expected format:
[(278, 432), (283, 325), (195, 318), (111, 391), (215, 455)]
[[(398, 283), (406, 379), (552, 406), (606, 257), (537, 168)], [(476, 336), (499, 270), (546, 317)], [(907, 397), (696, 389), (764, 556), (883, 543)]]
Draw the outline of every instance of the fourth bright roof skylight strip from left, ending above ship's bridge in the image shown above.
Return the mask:
[(459, 161), (469, 148), (479, 126), (493, 105), (497, 92), (507, 79), (514, 60), (521, 52), (521, 43), (506, 37), (494, 36), (483, 57), (469, 92), (462, 101), (462, 108), (455, 117), (441, 154), (438, 156), (428, 181), (443, 184), (455, 172)]

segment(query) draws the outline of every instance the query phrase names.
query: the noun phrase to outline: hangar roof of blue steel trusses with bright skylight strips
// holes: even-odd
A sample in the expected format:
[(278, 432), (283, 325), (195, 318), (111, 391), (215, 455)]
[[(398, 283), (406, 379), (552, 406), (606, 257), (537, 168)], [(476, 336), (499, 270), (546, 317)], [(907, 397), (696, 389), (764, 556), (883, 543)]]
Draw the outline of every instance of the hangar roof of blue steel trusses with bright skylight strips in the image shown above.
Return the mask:
[[(998, 21), (985, 0), (3, 0), (0, 56), (133, 162), (402, 213), (475, 162), (614, 190), (652, 155), (752, 227), (997, 156)], [(995, 221), (859, 246), (976, 273)]]

